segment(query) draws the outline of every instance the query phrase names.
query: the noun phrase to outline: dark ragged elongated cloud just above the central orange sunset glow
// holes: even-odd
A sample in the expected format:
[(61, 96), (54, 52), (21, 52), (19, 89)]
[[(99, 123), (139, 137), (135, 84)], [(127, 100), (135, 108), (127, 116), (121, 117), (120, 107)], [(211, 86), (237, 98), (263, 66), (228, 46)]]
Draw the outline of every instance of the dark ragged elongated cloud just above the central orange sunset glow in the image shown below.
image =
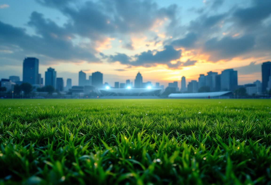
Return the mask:
[[(179, 59), (181, 55), (182, 50), (175, 50), (173, 46), (166, 45), (162, 51), (149, 50), (134, 55), (133, 57), (117, 53), (116, 55), (110, 55), (107, 58), (109, 62), (118, 61), (125, 65), (151, 67), (156, 66), (157, 64), (170, 64), (170, 61)], [(135, 60), (133, 60), (133, 58), (135, 58)]]

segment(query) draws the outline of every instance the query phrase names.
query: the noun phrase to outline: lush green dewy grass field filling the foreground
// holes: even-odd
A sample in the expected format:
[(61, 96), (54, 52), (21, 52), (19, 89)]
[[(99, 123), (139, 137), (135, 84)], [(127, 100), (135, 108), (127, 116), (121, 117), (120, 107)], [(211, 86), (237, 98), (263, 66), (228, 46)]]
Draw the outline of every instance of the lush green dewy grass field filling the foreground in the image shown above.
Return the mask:
[(270, 100), (0, 100), (0, 184), (271, 184)]

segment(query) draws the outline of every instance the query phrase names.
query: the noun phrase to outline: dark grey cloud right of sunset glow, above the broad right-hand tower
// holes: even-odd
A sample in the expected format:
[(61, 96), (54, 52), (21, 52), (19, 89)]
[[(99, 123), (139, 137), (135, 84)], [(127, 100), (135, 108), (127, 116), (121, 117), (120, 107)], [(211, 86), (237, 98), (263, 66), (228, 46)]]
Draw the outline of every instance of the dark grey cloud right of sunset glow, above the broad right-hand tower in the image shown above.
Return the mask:
[(211, 55), (210, 60), (218, 61), (244, 54), (252, 50), (254, 44), (254, 37), (249, 35), (240, 38), (223, 37), (221, 40), (212, 38), (205, 42), (203, 49)]

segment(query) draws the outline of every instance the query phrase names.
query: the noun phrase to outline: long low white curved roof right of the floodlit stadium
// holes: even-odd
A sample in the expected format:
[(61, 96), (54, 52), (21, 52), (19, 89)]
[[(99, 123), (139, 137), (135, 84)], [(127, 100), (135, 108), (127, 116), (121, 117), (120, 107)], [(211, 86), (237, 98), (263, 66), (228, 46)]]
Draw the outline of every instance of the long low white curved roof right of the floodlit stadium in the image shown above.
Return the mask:
[(231, 91), (219, 91), (219, 92), (196, 92), (196, 93), (172, 93), (169, 94), (169, 98), (208, 98), (210, 97), (223, 97), (229, 96)]

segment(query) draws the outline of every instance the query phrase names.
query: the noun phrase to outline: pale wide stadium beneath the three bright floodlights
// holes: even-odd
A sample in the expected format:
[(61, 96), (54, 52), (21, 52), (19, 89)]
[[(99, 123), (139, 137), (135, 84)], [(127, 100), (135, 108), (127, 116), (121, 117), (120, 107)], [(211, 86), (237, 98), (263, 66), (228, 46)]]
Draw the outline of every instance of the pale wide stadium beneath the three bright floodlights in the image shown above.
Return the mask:
[(161, 91), (160, 88), (103, 88), (97, 92), (101, 96), (158, 96)]

